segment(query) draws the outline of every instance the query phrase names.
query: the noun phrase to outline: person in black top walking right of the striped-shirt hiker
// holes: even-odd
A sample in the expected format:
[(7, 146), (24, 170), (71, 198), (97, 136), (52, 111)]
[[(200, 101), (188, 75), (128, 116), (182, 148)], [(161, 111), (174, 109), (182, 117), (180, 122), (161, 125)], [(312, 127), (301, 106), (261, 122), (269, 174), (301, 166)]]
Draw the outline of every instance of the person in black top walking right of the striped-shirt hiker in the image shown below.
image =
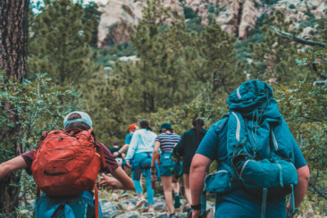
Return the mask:
[[(192, 162), (192, 158), (197, 151), (197, 147), (200, 144), (202, 138), (204, 138), (206, 130), (205, 122), (197, 117), (192, 122), (192, 129), (187, 130), (181, 136), (180, 142), (172, 150), (172, 155), (176, 156), (177, 159), (182, 158), (183, 166), (183, 180), (185, 197), (188, 204), (191, 205), (191, 193), (189, 189), (189, 169)], [(188, 208), (189, 209), (189, 208)]]

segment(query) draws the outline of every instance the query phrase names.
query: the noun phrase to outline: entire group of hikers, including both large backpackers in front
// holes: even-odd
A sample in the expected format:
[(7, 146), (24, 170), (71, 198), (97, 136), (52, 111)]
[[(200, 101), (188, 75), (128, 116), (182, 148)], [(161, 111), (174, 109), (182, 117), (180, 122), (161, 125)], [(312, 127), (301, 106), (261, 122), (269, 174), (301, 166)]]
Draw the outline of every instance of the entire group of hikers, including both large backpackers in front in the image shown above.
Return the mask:
[[(112, 152), (96, 141), (88, 113), (72, 112), (65, 116), (63, 130), (43, 133), (36, 150), (0, 164), (0, 179), (20, 169), (33, 174), (43, 191), (36, 199), (36, 217), (102, 217), (98, 172), (98, 184), (106, 189), (134, 189), (136, 207), (147, 202), (145, 212), (151, 217), (155, 173), (170, 217), (181, 205), (181, 175), (193, 218), (205, 217), (206, 192), (216, 195), (214, 217), (293, 217), (306, 195), (310, 172), (272, 88), (258, 80), (244, 82), (227, 105), (228, 113), (208, 131), (196, 118), (181, 137), (170, 123), (163, 123), (158, 135), (147, 120), (133, 123), (125, 145), (113, 146)], [(216, 172), (208, 174), (213, 161)]]

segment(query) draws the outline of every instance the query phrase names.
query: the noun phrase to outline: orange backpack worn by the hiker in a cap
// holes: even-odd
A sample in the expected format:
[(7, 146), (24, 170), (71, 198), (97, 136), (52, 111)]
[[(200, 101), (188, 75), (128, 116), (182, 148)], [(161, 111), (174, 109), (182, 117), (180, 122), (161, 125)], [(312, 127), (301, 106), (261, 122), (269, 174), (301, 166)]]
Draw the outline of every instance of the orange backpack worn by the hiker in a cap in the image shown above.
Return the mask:
[(105, 159), (91, 132), (92, 129), (43, 133), (32, 163), (38, 189), (49, 196), (73, 196), (93, 189)]

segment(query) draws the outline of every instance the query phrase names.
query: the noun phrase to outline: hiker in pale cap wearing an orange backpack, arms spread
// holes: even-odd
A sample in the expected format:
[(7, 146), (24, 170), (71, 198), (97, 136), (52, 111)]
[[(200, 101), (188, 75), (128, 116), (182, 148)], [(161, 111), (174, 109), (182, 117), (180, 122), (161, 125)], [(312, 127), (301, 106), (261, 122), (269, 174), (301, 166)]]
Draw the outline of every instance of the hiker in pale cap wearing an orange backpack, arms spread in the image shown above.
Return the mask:
[[(36, 217), (62, 217), (62, 215), (74, 215), (74, 217), (94, 217), (95, 214), (96, 217), (101, 217), (101, 209), (98, 208), (100, 206), (97, 203), (98, 199), (96, 197), (96, 202), (93, 201), (92, 192), (98, 172), (97, 169), (99, 169), (99, 172), (111, 174), (111, 177), (105, 175), (105, 173), (102, 173), (101, 176), (101, 185), (108, 187), (108, 189), (134, 189), (133, 181), (130, 180), (129, 176), (123, 172), (121, 167), (118, 166), (113, 155), (105, 147), (105, 145), (93, 140), (95, 137), (92, 130), (92, 121), (88, 116), (88, 113), (69, 113), (64, 118), (63, 125), (64, 130), (53, 130), (47, 133), (47, 135), (43, 134), (37, 147), (37, 152), (35, 152), (35, 150), (31, 150), (0, 164), (0, 178), (4, 177), (4, 175), (7, 173), (15, 172), (21, 169), (26, 169), (29, 174), (33, 173), (33, 177), (34, 180), (37, 181), (38, 188), (42, 189), (44, 192), (41, 197), (36, 199)], [(78, 138), (80, 142), (82, 140), (87, 141), (85, 144), (86, 146), (80, 147), (80, 144), (76, 144), (78, 143), (76, 138)], [(69, 140), (73, 140), (75, 144), (71, 146), (67, 144), (60, 144), (60, 141), (65, 142)], [(54, 145), (54, 143), (58, 143), (55, 145), (62, 146), (60, 147), (62, 150), (58, 152), (57, 146), (57, 149), (47, 150), (48, 152), (52, 153), (51, 155), (46, 156), (46, 154), (42, 152), (42, 145), (46, 145), (46, 147), (44, 146), (46, 149), (49, 147), (49, 143), (53, 143), (52, 145)], [(77, 150), (78, 148), (76, 147), (80, 147), (82, 150)], [(74, 159), (72, 160), (70, 153), (71, 149), (76, 149), (75, 151), (78, 153), (75, 153)], [(85, 164), (84, 161), (88, 158), (88, 154), (91, 154), (92, 160), (89, 164)], [(41, 155), (45, 155), (46, 158), (42, 159)], [(68, 155), (68, 158), (65, 158), (67, 157), (65, 155)], [(55, 157), (57, 157), (56, 164), (42, 164), (42, 162), (46, 163), (46, 161), (55, 160)], [(60, 162), (61, 158), (65, 158), (63, 159), (65, 164)], [(100, 164), (100, 162), (102, 162), (102, 164)], [(60, 168), (61, 163), (64, 165)], [(71, 165), (82, 165), (82, 167), (85, 167), (86, 170), (83, 171), (81, 175), (76, 174), (77, 172), (80, 172), (81, 167), (73, 168), (73, 170), (71, 170)], [(40, 171), (42, 167), (44, 167), (46, 170)], [(56, 167), (60, 169), (57, 169)], [(69, 172), (65, 173), (67, 170)], [(72, 176), (73, 173), (75, 173), (74, 176), (77, 178), (76, 182), (73, 182), (74, 180), (71, 179), (75, 178)], [(63, 174), (63, 177), (61, 174)], [(89, 179), (91, 176), (92, 179)], [(58, 180), (58, 177), (60, 180)], [(62, 187), (46, 185), (42, 187), (39, 186), (39, 184), (44, 185), (51, 182), (53, 182), (55, 185), (56, 183), (61, 184), (63, 181), (65, 183)], [(64, 189), (64, 191), (59, 191), (60, 189)], [(47, 195), (45, 192), (52, 193), (52, 195)], [(74, 192), (76, 192), (74, 195), (68, 194)], [(96, 194), (97, 189), (95, 189), (95, 195)], [(98, 208), (98, 210), (96, 210), (96, 208)]]

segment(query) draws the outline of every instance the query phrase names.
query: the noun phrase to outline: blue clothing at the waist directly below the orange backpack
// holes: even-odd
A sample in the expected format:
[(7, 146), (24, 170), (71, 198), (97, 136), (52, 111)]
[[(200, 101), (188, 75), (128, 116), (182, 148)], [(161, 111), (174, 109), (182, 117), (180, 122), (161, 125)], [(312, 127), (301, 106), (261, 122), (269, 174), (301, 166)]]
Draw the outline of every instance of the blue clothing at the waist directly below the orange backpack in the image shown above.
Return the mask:
[[(86, 190), (80, 195), (71, 197), (49, 197), (44, 193), (36, 199), (35, 217), (91, 218), (95, 216), (95, 207), (92, 195)], [(97, 208), (98, 216), (96, 217), (101, 218), (101, 206), (98, 204)]]

